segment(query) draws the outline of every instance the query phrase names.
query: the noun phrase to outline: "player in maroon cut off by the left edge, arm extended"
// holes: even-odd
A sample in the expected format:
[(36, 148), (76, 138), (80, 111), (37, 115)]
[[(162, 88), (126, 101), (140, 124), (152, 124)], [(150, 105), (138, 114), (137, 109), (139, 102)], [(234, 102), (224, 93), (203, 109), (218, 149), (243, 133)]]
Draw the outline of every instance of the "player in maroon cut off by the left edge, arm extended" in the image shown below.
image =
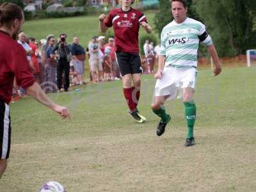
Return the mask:
[(49, 99), (31, 75), (26, 52), (15, 39), (24, 23), (24, 14), (16, 4), (0, 5), (0, 178), (7, 166), (10, 153), (10, 112), (13, 79), (34, 99), (38, 100), (62, 118), (70, 118), (66, 107), (59, 106)]

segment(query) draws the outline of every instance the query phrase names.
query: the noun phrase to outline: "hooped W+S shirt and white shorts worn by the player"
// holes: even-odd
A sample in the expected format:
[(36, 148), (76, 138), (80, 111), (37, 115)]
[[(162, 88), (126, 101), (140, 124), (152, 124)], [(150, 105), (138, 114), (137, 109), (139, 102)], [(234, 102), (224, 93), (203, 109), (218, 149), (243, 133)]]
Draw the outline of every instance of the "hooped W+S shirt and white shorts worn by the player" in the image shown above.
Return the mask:
[(157, 79), (155, 96), (174, 99), (178, 88), (195, 88), (200, 42), (212, 45), (204, 24), (197, 20), (187, 17), (181, 24), (173, 20), (163, 28), (159, 55), (165, 56), (164, 76)]

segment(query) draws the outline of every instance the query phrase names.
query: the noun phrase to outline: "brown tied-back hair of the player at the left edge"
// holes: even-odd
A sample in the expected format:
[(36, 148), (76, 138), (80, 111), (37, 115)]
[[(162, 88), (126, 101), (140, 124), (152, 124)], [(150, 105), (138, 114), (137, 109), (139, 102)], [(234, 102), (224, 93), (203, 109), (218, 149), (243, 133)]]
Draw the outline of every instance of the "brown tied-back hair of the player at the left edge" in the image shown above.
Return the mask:
[(22, 9), (17, 6), (17, 4), (0, 4), (0, 26), (6, 26), (7, 28), (11, 28), (13, 20), (22, 20), (22, 17)]

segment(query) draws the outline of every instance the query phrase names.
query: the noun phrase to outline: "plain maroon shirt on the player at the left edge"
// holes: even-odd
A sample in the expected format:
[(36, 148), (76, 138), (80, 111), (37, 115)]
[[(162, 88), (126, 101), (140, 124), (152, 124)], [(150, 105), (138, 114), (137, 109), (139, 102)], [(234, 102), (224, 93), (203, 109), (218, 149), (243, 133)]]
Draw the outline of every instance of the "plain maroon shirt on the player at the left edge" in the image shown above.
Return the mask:
[(25, 90), (35, 80), (22, 45), (4, 31), (0, 31), (0, 42), (0, 100), (9, 104), (12, 99), (14, 77), (17, 84)]

